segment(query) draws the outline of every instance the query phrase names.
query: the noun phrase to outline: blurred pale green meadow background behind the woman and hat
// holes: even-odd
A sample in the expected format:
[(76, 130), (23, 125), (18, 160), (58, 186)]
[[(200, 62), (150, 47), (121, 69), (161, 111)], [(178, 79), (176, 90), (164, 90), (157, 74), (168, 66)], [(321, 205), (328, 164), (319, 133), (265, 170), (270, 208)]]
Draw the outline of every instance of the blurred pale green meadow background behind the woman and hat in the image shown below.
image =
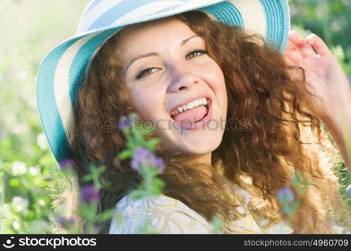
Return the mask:
[[(41, 127), (35, 79), (46, 53), (75, 35), (89, 2), (0, 0), (0, 233), (49, 233), (55, 227), (51, 196), (59, 191), (50, 184), (59, 168)], [(292, 30), (320, 36), (350, 76), (351, 0), (289, 5)], [(351, 184), (347, 172), (340, 172), (340, 182)], [(340, 193), (345, 196), (344, 187)]]

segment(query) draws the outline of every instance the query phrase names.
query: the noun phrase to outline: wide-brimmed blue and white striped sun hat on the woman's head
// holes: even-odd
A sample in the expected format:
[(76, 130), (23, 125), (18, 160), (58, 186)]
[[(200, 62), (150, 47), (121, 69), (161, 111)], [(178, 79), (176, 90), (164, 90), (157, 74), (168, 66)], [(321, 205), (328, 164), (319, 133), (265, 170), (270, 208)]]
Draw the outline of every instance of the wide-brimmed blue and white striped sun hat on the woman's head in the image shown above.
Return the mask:
[(70, 157), (76, 93), (104, 41), (126, 25), (196, 9), (262, 35), (281, 53), (285, 49), (290, 30), (287, 0), (93, 0), (83, 13), (77, 35), (52, 49), (37, 75), (39, 114), (58, 163)]

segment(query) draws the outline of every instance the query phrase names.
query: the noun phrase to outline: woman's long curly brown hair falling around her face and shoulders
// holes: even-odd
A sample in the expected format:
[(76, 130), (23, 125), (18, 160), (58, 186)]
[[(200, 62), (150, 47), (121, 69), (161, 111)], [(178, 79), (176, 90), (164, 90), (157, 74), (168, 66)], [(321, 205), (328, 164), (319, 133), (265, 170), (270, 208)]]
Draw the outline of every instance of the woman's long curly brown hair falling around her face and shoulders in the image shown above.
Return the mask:
[[(166, 184), (163, 194), (182, 201), (207, 220), (222, 216), (225, 231), (230, 232), (229, 222), (240, 217), (233, 210), (239, 205), (228, 199), (230, 186), (225, 184), (236, 183), (246, 189), (253, 211), (275, 222), (284, 218), (276, 193), (291, 186), (289, 180), (300, 171), (310, 185), (299, 194), (301, 203), (291, 224), (294, 233), (330, 233), (332, 220), (349, 227), (350, 214), (338, 194), (337, 149), (319, 119), (302, 103), (298, 86), (307, 84), (303, 69), (288, 65), (261, 36), (217, 22), (205, 12), (173, 17), (205, 39), (209, 56), (224, 73), (227, 121), (249, 119), (250, 130), (226, 130), (212, 153), (210, 167), (182, 152), (168, 152), (159, 144), (155, 154), (166, 166), (159, 175)], [(117, 45), (118, 33), (101, 46), (74, 107), (72, 157), (79, 183), (83, 185), (90, 163), (105, 166), (102, 180), (110, 182), (102, 189), (99, 212), (113, 208), (141, 180), (130, 160), (118, 159), (126, 148), (122, 132), (100, 130), (110, 117), (136, 112), (119, 77), (122, 65)], [(211, 184), (205, 175), (209, 168), (214, 180)], [(109, 223), (101, 224), (99, 232), (107, 233)]]

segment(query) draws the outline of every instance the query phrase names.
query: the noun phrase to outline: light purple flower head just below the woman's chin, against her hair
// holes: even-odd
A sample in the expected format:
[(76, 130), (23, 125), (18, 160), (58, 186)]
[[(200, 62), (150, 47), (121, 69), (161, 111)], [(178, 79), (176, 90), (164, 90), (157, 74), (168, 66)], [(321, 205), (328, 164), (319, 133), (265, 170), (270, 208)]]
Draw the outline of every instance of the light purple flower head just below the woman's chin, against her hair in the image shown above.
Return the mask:
[(159, 174), (163, 173), (164, 171), (163, 160), (161, 158), (157, 158), (152, 151), (143, 147), (135, 149), (133, 159), (131, 161), (131, 167), (138, 171), (141, 166), (146, 165), (150, 168), (157, 168)]

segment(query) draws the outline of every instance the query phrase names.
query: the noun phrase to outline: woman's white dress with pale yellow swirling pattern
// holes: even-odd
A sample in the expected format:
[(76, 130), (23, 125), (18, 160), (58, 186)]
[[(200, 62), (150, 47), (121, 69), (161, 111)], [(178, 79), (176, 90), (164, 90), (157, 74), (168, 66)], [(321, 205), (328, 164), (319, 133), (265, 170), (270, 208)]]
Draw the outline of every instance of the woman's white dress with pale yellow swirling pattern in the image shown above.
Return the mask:
[[(269, 222), (248, 209), (250, 194), (234, 184), (234, 193), (229, 194), (236, 209), (246, 216), (231, 222), (232, 233), (292, 233), (285, 222)], [(210, 223), (183, 202), (164, 194), (134, 199), (130, 195), (116, 204), (116, 213), (110, 224), (109, 233), (140, 233), (141, 229), (152, 229), (155, 233), (212, 233)], [(335, 225), (335, 233), (344, 228)], [(349, 233), (349, 232), (348, 232)]]

